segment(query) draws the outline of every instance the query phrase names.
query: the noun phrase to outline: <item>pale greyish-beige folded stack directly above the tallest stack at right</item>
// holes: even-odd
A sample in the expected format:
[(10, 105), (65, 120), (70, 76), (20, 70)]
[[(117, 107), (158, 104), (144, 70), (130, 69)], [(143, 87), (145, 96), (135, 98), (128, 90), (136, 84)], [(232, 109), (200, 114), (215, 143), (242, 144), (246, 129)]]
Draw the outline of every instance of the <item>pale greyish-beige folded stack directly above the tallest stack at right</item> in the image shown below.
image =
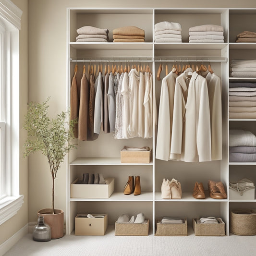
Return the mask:
[(256, 60), (233, 59), (231, 71), (233, 77), (256, 77)]

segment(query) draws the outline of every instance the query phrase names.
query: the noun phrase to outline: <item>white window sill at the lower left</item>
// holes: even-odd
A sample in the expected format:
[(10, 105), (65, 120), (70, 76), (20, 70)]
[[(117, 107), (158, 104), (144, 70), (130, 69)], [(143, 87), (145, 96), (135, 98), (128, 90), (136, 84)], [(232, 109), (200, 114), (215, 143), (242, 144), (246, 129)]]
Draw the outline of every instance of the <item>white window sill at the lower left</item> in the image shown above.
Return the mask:
[(0, 200), (0, 225), (12, 218), (24, 203), (24, 195), (6, 196)]

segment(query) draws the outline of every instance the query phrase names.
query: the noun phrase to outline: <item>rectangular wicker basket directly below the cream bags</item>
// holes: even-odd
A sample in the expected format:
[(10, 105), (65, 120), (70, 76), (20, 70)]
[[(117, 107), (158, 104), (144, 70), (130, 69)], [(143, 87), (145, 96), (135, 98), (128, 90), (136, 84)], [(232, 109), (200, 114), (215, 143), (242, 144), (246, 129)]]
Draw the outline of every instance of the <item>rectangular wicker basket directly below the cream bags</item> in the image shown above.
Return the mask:
[(183, 219), (184, 223), (161, 223), (161, 220), (157, 220), (155, 236), (186, 236), (187, 219)]

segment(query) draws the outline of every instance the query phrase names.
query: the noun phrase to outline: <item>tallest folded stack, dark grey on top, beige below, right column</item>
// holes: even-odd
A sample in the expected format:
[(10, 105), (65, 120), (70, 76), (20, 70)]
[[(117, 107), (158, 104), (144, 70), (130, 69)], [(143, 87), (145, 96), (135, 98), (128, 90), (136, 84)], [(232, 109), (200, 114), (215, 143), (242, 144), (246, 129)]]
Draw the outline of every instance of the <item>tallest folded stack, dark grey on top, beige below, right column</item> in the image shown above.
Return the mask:
[(256, 118), (256, 83), (229, 83), (229, 118)]

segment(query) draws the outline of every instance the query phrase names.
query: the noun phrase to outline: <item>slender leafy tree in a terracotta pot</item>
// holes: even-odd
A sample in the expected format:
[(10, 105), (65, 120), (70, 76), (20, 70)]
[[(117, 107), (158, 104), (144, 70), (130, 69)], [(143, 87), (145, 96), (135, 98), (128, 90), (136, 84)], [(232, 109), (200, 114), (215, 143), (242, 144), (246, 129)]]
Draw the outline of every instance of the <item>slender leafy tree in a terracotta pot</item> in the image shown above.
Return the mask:
[(63, 236), (64, 213), (54, 207), (54, 180), (61, 167), (65, 155), (73, 148), (73, 127), (76, 120), (67, 121), (69, 111), (61, 112), (55, 119), (48, 117), (49, 97), (42, 104), (30, 102), (25, 115), (24, 129), (28, 133), (25, 142), (24, 157), (30, 153), (41, 151), (47, 157), (52, 177), (51, 208), (41, 209), (38, 216), (44, 216), (45, 222), (51, 227), (51, 238)]

